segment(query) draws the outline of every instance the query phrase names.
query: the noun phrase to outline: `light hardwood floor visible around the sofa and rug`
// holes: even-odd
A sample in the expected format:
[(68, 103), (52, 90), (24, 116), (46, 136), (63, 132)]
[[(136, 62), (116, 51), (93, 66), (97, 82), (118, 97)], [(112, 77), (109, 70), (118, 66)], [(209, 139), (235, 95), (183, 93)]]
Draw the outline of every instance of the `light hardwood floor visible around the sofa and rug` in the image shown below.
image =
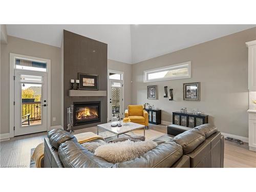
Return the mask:
[[(150, 125), (150, 129), (161, 133), (167, 133), (166, 125)], [(97, 132), (96, 127), (77, 130), (75, 133)], [(8, 141), (0, 142), (0, 167), (29, 167), (30, 150), (39, 143), (44, 142), (46, 132), (17, 136)], [(224, 167), (256, 167), (256, 152), (248, 150), (248, 143), (225, 141)]]

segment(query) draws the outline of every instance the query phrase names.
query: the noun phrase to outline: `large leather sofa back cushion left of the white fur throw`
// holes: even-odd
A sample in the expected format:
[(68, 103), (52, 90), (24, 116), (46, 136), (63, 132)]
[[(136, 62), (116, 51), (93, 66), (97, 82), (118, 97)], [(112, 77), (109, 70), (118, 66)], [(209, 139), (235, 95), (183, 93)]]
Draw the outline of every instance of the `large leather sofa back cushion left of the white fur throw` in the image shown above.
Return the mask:
[(113, 164), (95, 156), (83, 148), (79, 143), (66, 141), (59, 146), (59, 158), (64, 167), (90, 168), (90, 167), (112, 167)]

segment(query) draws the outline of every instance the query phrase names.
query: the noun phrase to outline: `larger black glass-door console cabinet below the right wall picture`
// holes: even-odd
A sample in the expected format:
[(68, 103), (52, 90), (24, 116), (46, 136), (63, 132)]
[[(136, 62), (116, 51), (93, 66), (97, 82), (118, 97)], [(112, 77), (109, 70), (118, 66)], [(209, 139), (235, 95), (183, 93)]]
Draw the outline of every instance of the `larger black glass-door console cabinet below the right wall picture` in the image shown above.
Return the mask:
[(205, 123), (208, 123), (208, 115), (173, 112), (173, 124), (194, 128)]

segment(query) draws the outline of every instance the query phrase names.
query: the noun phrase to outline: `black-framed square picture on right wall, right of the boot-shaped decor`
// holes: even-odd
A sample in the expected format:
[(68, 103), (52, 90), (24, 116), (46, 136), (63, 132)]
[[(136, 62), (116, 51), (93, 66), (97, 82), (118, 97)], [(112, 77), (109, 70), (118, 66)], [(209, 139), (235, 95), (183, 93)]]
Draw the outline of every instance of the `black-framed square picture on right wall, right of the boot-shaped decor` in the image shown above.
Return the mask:
[(183, 100), (200, 101), (200, 82), (183, 83)]

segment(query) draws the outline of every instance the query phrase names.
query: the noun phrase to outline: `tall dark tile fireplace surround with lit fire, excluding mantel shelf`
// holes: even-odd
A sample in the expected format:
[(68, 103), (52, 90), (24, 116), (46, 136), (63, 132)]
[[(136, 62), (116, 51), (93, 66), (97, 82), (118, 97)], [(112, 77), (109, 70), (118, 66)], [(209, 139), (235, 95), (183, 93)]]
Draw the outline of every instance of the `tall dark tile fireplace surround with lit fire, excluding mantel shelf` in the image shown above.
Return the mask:
[(78, 73), (98, 75), (98, 91), (107, 90), (108, 45), (70, 31), (63, 31), (63, 128), (67, 130), (67, 108), (74, 104), (74, 130), (106, 123), (106, 96), (69, 96), (70, 79)]

